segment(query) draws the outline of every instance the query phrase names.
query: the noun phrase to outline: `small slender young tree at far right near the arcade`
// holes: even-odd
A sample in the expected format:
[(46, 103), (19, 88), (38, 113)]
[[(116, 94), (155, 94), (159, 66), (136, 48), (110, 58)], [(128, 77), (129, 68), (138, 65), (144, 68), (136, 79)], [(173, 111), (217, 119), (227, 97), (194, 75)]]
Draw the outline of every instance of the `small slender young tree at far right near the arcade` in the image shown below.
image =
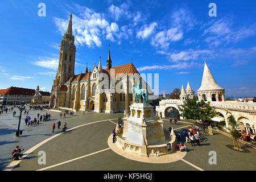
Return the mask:
[[(237, 150), (241, 150), (241, 146), (240, 146), (240, 143), (238, 140), (240, 133), (238, 132), (239, 126), (237, 124), (237, 121), (233, 115), (230, 115), (228, 117), (228, 119), (229, 119), (229, 126), (231, 126), (231, 127), (228, 127), (228, 130), (230, 131), (230, 134), (232, 135), (233, 146), (234, 146), (234, 148), (237, 148)], [(235, 146), (235, 142), (237, 143), (237, 147)]]

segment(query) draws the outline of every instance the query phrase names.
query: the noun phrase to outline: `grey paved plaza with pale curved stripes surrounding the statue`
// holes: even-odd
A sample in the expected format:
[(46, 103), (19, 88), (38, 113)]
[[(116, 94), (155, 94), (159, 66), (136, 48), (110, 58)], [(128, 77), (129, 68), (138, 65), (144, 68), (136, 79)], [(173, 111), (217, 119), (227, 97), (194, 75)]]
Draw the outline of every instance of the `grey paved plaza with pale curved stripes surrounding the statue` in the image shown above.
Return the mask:
[[(93, 171), (112, 171), (112, 170), (255, 170), (256, 169), (256, 151), (255, 148), (241, 143), (243, 152), (235, 151), (232, 146), (232, 138), (216, 130), (214, 135), (203, 134), (201, 147), (192, 147), (190, 143), (185, 143), (187, 154), (183, 159), (172, 163), (153, 164), (137, 162), (116, 154), (108, 146), (108, 137), (115, 128), (118, 117), (123, 117), (123, 113), (75, 113), (74, 116), (67, 115), (60, 119), (58, 110), (31, 110), (31, 118), (36, 114), (51, 114), (51, 121), (42, 122), (40, 126), (27, 127), (24, 124), (24, 112), (20, 129), (23, 130), (21, 137), (15, 137), (15, 131), (18, 127), (17, 117), (19, 115), (16, 109), (16, 117), (13, 112), (1, 114), (0, 116), (0, 168), (20, 170), (93, 170)], [(60, 130), (55, 129), (52, 133), (53, 123), (61, 121), (67, 123), (69, 131), (62, 134)], [(164, 129), (170, 127), (168, 119), (163, 119)], [(188, 126), (192, 126), (189, 121), (178, 121), (177, 125), (172, 124), (175, 132), (181, 133)], [(74, 129), (72, 129), (74, 128)], [(71, 129), (71, 130), (70, 130)], [(46, 139), (48, 139), (46, 141)], [(44, 141), (44, 142), (43, 142)], [(37, 145), (40, 143), (40, 145)], [(26, 151), (31, 150), (23, 160), (19, 160), (16, 167), (7, 167), (12, 162), (11, 151), (15, 146), (23, 146)], [(37, 146), (36, 146), (37, 145)], [(46, 152), (46, 164), (39, 164), (39, 151)], [(217, 164), (209, 164), (209, 152), (216, 151)]]

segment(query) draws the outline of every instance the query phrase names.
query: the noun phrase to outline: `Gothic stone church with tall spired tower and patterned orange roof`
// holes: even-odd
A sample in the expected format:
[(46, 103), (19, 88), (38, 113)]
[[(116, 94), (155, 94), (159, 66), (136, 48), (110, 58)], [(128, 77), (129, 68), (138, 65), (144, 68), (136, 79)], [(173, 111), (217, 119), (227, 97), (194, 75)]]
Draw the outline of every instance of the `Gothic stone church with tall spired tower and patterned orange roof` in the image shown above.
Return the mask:
[[(60, 44), (59, 67), (53, 80), (50, 107), (63, 107), (72, 110), (116, 113), (130, 110), (135, 102), (132, 88), (142, 81), (143, 88), (152, 90), (141, 78), (132, 63), (112, 67), (110, 48), (107, 68), (102, 69), (101, 57), (98, 67), (92, 71), (75, 75), (76, 46), (72, 34), (72, 14), (68, 29)], [(147, 85), (147, 86), (146, 86)]]

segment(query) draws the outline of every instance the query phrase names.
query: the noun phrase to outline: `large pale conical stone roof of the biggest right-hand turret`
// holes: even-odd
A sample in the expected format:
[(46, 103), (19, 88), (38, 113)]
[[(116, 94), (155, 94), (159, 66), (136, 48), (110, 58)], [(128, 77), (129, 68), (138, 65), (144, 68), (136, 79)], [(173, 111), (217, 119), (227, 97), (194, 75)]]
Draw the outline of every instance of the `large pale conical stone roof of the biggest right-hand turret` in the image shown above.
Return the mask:
[(214, 77), (212, 76), (212, 73), (210, 72), (207, 66), (206, 61), (204, 61), (204, 73), (203, 73), (202, 83), (200, 88), (197, 90), (197, 92), (202, 90), (224, 90), (224, 88), (219, 86), (215, 81)]

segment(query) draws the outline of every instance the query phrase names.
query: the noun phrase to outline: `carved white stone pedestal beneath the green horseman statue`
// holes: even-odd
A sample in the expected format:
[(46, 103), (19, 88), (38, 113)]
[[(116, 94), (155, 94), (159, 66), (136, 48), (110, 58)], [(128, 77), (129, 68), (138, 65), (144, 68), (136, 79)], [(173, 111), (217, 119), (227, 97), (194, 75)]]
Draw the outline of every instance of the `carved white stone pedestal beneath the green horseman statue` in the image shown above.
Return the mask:
[(117, 136), (119, 148), (147, 157), (171, 151), (167, 147), (171, 141), (170, 133), (164, 131), (162, 119), (154, 117), (153, 106), (133, 104), (130, 106), (130, 113), (129, 117), (125, 114), (123, 128), (120, 130), (122, 132)]

